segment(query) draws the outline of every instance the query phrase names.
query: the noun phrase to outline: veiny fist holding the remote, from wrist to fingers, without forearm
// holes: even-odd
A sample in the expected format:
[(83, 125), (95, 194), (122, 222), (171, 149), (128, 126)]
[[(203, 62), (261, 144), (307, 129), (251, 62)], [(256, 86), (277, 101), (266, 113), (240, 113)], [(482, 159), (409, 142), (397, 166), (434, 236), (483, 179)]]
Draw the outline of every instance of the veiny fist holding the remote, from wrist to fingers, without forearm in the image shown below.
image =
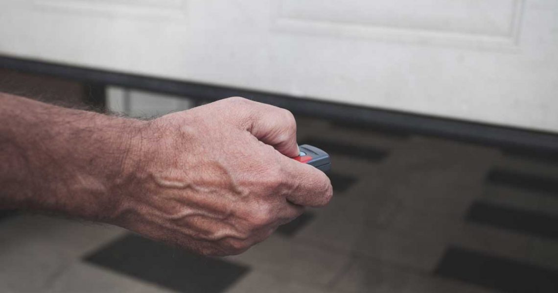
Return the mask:
[(149, 121), (113, 222), (203, 255), (242, 253), (331, 199), (328, 177), (297, 155), (292, 114), (240, 97)]

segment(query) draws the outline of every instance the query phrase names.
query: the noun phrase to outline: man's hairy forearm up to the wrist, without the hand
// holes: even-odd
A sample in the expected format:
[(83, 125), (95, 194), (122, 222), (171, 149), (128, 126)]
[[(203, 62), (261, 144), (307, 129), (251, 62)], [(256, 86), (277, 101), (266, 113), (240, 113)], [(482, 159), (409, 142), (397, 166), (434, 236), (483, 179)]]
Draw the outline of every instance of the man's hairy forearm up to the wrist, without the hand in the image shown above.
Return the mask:
[(0, 208), (111, 217), (145, 122), (11, 95), (0, 103)]

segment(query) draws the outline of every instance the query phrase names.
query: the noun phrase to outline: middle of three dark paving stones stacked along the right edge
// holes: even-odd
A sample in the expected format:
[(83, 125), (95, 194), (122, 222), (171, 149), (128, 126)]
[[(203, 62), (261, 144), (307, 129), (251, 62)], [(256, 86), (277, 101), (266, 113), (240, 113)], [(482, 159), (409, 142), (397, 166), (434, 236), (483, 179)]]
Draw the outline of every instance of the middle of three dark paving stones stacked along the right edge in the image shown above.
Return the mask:
[(475, 202), (469, 208), (465, 219), (529, 235), (558, 238), (558, 216), (550, 214)]

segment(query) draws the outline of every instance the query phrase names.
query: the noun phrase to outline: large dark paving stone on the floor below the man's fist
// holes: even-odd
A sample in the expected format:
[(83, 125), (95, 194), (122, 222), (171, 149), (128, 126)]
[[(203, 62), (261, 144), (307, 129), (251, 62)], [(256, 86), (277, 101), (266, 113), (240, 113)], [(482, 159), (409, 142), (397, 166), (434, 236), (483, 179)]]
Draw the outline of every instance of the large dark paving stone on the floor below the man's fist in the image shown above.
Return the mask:
[(223, 292), (249, 268), (126, 235), (84, 260), (179, 292)]

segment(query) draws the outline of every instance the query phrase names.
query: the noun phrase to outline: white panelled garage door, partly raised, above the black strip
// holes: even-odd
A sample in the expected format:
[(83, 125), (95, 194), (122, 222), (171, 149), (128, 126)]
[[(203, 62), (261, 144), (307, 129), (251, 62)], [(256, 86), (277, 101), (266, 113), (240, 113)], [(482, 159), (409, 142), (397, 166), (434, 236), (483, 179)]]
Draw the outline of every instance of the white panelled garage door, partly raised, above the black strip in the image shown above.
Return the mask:
[(558, 132), (556, 0), (0, 0), (0, 54)]

